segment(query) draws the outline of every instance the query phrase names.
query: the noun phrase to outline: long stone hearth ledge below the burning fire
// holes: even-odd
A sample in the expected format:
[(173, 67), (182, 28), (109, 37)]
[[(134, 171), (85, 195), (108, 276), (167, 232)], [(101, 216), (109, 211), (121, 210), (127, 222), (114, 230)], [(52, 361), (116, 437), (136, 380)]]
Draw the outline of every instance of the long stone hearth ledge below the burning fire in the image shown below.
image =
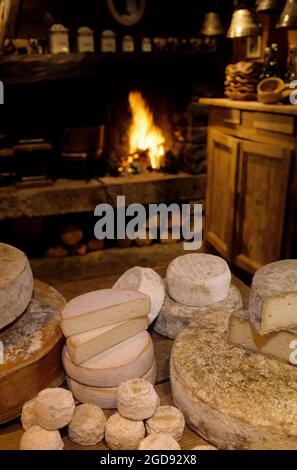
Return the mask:
[(93, 212), (100, 203), (115, 206), (117, 196), (125, 196), (127, 205), (203, 199), (205, 188), (206, 175), (186, 173), (61, 179), (51, 186), (26, 189), (8, 186), (0, 188), (0, 220)]

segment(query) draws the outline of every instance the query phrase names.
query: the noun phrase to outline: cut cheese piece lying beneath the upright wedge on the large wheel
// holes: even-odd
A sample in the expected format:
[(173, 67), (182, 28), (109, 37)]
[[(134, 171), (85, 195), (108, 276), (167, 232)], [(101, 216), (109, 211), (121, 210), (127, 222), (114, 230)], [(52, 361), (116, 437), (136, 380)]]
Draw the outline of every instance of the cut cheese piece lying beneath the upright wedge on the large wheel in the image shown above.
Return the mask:
[(297, 364), (297, 330), (273, 331), (259, 335), (249, 322), (247, 309), (233, 312), (229, 319), (228, 341), (250, 351), (266, 354), (289, 364)]

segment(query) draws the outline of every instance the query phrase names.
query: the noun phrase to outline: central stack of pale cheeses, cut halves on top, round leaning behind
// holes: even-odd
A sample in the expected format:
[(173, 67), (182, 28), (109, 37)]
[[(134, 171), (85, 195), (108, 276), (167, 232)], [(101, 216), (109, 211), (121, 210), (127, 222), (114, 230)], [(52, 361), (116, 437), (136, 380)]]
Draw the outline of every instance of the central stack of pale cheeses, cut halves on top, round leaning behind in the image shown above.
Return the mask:
[(61, 320), (67, 338), (63, 364), (77, 400), (112, 409), (121, 383), (135, 378), (155, 383), (154, 347), (146, 329), (164, 296), (157, 273), (133, 268), (113, 289), (90, 292), (66, 305)]

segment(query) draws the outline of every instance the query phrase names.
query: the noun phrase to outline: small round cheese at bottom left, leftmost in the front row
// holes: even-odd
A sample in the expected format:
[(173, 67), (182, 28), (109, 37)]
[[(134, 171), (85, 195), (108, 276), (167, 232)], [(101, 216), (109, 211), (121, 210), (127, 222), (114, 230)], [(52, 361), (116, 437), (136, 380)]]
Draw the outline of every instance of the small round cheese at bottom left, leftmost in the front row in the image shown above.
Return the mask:
[(40, 426), (33, 426), (24, 432), (20, 450), (63, 450), (64, 443), (59, 431), (48, 431)]

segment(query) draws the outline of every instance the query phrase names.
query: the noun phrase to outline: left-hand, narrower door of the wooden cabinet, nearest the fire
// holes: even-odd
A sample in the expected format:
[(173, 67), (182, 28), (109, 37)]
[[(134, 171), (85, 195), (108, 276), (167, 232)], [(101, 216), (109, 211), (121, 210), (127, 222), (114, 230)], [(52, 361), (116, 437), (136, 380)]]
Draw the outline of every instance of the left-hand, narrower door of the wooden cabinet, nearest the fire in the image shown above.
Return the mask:
[(232, 257), (239, 141), (208, 133), (206, 240), (227, 260)]

